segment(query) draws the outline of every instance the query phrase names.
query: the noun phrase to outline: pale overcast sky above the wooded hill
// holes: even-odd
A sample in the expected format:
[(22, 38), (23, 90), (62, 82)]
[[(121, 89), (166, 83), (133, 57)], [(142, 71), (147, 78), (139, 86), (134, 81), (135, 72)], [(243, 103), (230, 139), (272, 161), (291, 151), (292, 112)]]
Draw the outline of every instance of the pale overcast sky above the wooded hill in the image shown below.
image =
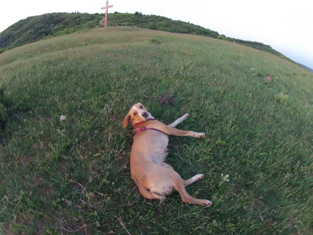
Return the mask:
[[(109, 13), (155, 14), (198, 24), (227, 37), (262, 42), (313, 68), (311, 1), (109, 0), (109, 5), (113, 5)], [(28, 16), (75, 11), (101, 13), (105, 0), (4, 0), (0, 6), (1, 32)]]

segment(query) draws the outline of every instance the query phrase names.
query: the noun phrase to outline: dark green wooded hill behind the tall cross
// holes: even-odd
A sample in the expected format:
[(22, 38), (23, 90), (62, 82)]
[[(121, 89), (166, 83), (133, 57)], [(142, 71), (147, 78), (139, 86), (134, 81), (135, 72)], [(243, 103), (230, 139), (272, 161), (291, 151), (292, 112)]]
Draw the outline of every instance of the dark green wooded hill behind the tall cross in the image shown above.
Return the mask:
[[(49, 37), (60, 36), (87, 29), (101, 27), (99, 22), (102, 15), (95, 13), (47, 13), (39, 16), (31, 16), (20, 20), (0, 33), (0, 53), (27, 43), (35, 42)], [(269, 52), (292, 63), (285, 55), (274, 50), (269, 45), (260, 42), (245, 41), (220, 35), (218, 32), (203, 28), (199, 25), (186, 23), (180, 20), (172, 20), (163, 16), (143, 15), (140, 12), (110, 13), (109, 26), (134, 26), (172, 33), (196, 34), (217, 39), (223, 39), (258, 50)], [(297, 63), (296, 63), (297, 64)]]

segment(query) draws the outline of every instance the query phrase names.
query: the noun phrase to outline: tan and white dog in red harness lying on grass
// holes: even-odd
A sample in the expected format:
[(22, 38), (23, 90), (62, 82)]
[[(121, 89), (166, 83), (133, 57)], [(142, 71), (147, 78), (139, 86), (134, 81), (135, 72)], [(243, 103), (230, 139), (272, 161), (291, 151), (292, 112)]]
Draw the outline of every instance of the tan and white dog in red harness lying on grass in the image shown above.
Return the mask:
[(168, 135), (203, 138), (205, 133), (183, 131), (175, 127), (189, 117), (185, 114), (175, 122), (165, 125), (155, 120), (146, 108), (137, 103), (129, 110), (122, 124), (126, 128), (131, 123), (134, 128), (134, 143), (131, 148), (131, 177), (138, 185), (142, 196), (163, 201), (172, 190), (179, 192), (182, 201), (202, 206), (212, 206), (212, 202), (191, 197), (185, 187), (203, 179), (198, 174), (189, 180), (182, 177), (164, 162), (167, 155)]

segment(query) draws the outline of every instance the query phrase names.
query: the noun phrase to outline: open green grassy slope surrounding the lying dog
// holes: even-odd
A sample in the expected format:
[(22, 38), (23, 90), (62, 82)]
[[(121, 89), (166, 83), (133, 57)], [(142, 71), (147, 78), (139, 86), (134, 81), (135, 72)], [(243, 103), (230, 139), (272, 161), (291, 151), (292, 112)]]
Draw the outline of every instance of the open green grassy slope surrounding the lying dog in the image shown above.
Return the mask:
[[(0, 64), (1, 234), (312, 234), (303, 68), (225, 40), (129, 27), (23, 45)], [(121, 125), (138, 101), (164, 123), (190, 113), (179, 128), (206, 133), (170, 137), (167, 162), (185, 179), (203, 173), (187, 191), (213, 207), (140, 195), (132, 129)]]

